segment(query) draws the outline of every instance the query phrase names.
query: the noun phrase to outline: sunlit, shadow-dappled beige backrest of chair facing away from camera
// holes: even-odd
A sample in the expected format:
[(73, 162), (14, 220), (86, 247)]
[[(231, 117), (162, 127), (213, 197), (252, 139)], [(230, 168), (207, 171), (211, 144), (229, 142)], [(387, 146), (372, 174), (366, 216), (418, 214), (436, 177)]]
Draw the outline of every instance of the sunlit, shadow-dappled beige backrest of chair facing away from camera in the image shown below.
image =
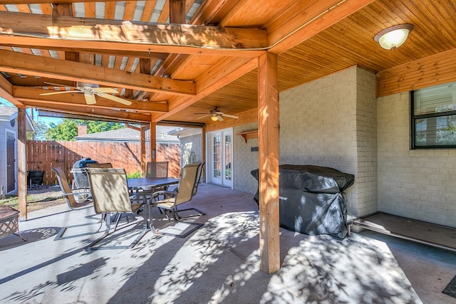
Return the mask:
[(132, 212), (127, 174), (121, 168), (86, 168), (95, 213)]

